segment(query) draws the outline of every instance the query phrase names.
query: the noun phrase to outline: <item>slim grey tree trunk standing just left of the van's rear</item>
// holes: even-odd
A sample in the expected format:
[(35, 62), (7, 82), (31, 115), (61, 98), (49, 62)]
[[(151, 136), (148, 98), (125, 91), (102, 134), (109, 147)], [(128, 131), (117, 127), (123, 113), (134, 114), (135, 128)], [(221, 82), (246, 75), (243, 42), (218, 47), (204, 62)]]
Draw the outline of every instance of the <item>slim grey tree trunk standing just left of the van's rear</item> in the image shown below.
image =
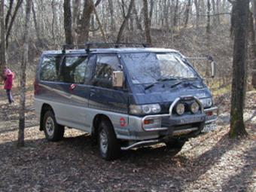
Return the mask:
[(26, 65), (29, 60), (29, 21), (32, 0), (26, 0), (26, 20), (23, 36), (23, 57), (20, 66), (20, 110), (19, 110), (19, 133), (18, 147), (24, 146), (24, 129), (25, 129), (25, 102), (26, 102)]

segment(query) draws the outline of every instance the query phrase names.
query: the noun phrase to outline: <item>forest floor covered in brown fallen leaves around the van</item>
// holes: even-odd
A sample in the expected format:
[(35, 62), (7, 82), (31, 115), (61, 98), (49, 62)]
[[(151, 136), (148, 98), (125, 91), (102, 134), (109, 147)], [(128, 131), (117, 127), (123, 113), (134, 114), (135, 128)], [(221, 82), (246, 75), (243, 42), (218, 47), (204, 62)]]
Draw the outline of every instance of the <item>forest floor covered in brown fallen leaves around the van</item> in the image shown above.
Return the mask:
[(245, 139), (228, 138), (230, 93), (216, 96), (218, 129), (190, 139), (179, 154), (163, 145), (99, 157), (90, 136), (66, 130), (47, 142), (27, 92), (25, 148), (17, 148), (19, 93), (7, 105), (0, 91), (0, 191), (256, 191), (256, 91), (247, 93)]

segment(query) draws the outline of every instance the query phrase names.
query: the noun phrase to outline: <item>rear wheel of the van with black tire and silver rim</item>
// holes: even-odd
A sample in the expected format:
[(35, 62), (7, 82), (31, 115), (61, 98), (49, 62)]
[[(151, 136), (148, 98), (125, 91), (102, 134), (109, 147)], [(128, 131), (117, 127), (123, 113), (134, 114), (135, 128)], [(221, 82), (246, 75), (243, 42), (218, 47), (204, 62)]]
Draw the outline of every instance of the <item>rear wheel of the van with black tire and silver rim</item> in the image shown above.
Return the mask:
[(50, 142), (58, 142), (64, 136), (64, 126), (56, 123), (53, 111), (46, 111), (43, 120), (44, 135)]

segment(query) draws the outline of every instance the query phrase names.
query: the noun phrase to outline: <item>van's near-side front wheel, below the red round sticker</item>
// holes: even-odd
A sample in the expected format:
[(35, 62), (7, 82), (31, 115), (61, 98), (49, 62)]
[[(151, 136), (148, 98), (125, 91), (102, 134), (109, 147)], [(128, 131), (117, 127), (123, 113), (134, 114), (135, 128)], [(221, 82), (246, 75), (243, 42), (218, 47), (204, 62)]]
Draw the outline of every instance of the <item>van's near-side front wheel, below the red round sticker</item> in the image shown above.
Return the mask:
[(115, 160), (120, 157), (120, 142), (108, 120), (99, 123), (98, 145), (99, 154), (104, 160)]

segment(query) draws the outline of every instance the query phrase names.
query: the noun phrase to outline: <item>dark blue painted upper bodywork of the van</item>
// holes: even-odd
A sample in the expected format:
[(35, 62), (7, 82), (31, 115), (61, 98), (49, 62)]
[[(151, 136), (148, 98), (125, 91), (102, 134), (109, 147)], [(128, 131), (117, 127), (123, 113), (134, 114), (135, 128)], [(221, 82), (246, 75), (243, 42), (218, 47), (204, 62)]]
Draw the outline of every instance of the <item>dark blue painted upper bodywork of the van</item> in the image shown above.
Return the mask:
[[(107, 50), (107, 49), (106, 49)], [(85, 84), (78, 85), (73, 91), (70, 91), (69, 83), (58, 83), (58, 82), (47, 82), (42, 81), (41, 84), (44, 84), (53, 90), (59, 90), (62, 93), (66, 93), (66, 96), (59, 96), (58, 93), (54, 93), (50, 90), (45, 90), (42, 88), (41, 94), (47, 98), (50, 95), (51, 99), (56, 99), (59, 102), (73, 103), (73, 105), (84, 105), (89, 106), (90, 108), (98, 108), (105, 111), (114, 111), (119, 113), (128, 113), (129, 105), (143, 105), (151, 103), (160, 103), (163, 108), (161, 113), (166, 113), (169, 105), (178, 97), (178, 96), (197, 96), (198, 94), (204, 95), (203, 97), (211, 97), (209, 89), (203, 84), (203, 81), (191, 82), (190, 84), (201, 84), (203, 88), (197, 89), (191, 86), (179, 85), (177, 87), (171, 88), (169, 82), (164, 82), (157, 84), (156, 86), (145, 90), (145, 85), (142, 84), (133, 84), (129, 73), (127, 72), (126, 63), (123, 62), (121, 58), (121, 52), (115, 53), (114, 50), (110, 51), (111, 54), (117, 54), (120, 59), (120, 64), (123, 66), (123, 73), (125, 76), (125, 88), (123, 89), (106, 89), (102, 87), (96, 87), (91, 84), (93, 75), (95, 73), (96, 66), (96, 55), (97, 53), (90, 53), (88, 65), (90, 66), (90, 71), (87, 73), (87, 78), (85, 79)], [(107, 51), (104, 52), (105, 54)], [(63, 54), (50, 54), (45, 53), (43, 56), (56, 56)], [(69, 56), (85, 56), (84, 52), (75, 52), (75, 53), (66, 53)], [(186, 61), (187, 62), (187, 61)], [(187, 65), (190, 66), (188, 63)], [(191, 67), (191, 66), (190, 66)], [(36, 81), (39, 82), (39, 72), (36, 75)], [(88, 101), (87, 104), (81, 104), (80, 101), (75, 99), (75, 97), (68, 96), (77, 96)], [(200, 97), (200, 96), (198, 96)], [(72, 98), (72, 99), (70, 99)]]

